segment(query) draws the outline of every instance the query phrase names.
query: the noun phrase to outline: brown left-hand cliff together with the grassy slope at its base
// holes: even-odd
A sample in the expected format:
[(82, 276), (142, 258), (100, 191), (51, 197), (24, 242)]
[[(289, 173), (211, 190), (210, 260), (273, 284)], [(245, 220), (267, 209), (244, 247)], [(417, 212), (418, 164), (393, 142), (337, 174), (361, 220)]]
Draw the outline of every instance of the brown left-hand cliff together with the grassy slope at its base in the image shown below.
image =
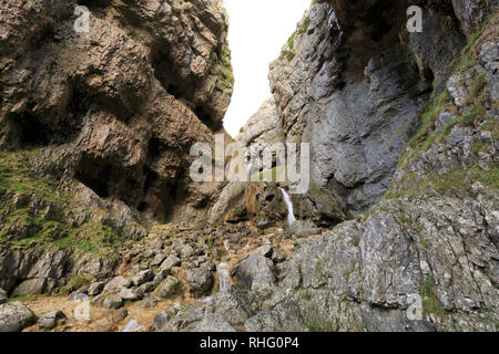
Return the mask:
[(9, 294), (110, 277), (109, 253), (146, 221), (204, 222), (221, 187), (189, 178), (232, 95), (221, 1), (79, 4), (0, 4), (0, 243), (21, 247), (0, 246)]

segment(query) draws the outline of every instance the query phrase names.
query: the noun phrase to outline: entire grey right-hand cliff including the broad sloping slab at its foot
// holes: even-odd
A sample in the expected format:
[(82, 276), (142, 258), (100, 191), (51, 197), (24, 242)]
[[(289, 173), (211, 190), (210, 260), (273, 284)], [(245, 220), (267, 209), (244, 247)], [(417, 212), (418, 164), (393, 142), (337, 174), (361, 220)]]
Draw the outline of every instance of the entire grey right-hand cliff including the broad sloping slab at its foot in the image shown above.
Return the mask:
[[(294, 303), (299, 313), (294, 317), (313, 331), (497, 331), (497, 2), (421, 1), (425, 23), (446, 29), (439, 34), (429, 29), (426, 39), (416, 33), (390, 39), (390, 28), (376, 37), (379, 28), (363, 27), (363, 11), (376, 6), (396, 21), (390, 12), (395, 3), (385, 9), (377, 1), (374, 8), (359, 8), (358, 1), (330, 2), (338, 23), (333, 21), (329, 38), (337, 42), (313, 41), (318, 33), (329, 35), (323, 28), (328, 6), (313, 4), (309, 21), (303, 22), (307, 27), (294, 40), (295, 56), (283, 54), (273, 64), (278, 112), (288, 136), (303, 134), (313, 143), (316, 177), (327, 176), (324, 183), (334, 179), (334, 188), (349, 188), (342, 195), (348, 206), (357, 206), (353, 211), (375, 204), (388, 180), (390, 187), (368, 212), (303, 243), (281, 274), (273, 305), (249, 319), (246, 329), (294, 330), (292, 321), (279, 321), (278, 315), (281, 306)], [(487, 12), (493, 4), (496, 12)], [(491, 18), (473, 37), (483, 17), (477, 13)], [(449, 19), (458, 19), (464, 30)], [(399, 33), (397, 27), (394, 30)], [(455, 33), (452, 39), (445, 38), (449, 33)], [(400, 46), (399, 38), (407, 45)], [(462, 38), (473, 39), (459, 53)], [(366, 45), (381, 39), (381, 46)], [(363, 48), (374, 50), (364, 59), (359, 40), (369, 40)], [(355, 43), (358, 48), (352, 46)], [(444, 52), (452, 65), (439, 58)], [(352, 59), (354, 53), (356, 61), (342, 61), (340, 55)], [(314, 69), (322, 60), (325, 66)], [(326, 67), (325, 76), (320, 67)], [(291, 85), (301, 77), (304, 85)], [(406, 79), (398, 82), (401, 77)], [(429, 84), (431, 97), (425, 88)], [(305, 97), (309, 101), (302, 101)], [(430, 102), (422, 122), (420, 100)], [(309, 103), (298, 108), (298, 102)], [(369, 106), (371, 111), (363, 112)], [(322, 145), (315, 126), (329, 132), (327, 145)], [(388, 138), (390, 131), (395, 133)], [(376, 156), (385, 148), (391, 153)], [(320, 157), (328, 164), (322, 165)]]

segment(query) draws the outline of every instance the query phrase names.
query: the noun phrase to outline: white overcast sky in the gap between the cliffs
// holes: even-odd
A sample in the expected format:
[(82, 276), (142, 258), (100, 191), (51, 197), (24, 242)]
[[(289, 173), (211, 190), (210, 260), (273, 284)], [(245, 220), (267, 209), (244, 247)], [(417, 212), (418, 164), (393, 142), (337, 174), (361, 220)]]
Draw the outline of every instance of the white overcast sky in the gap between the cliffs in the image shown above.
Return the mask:
[(234, 67), (234, 94), (225, 129), (240, 128), (271, 97), (268, 64), (295, 31), (312, 0), (224, 0), (228, 12), (228, 44)]

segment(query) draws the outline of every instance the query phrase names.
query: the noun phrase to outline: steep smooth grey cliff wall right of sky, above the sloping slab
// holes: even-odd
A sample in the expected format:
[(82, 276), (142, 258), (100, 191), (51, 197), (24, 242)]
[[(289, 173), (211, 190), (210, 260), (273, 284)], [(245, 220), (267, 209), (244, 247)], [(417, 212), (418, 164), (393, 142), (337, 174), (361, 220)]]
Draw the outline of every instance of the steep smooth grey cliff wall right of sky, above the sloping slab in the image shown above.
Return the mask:
[(426, 31), (409, 34), (404, 1), (332, 3), (334, 12), (312, 4), (269, 80), (286, 140), (312, 145), (317, 188), (358, 215), (386, 192), (431, 85), (465, 37), (439, 8), (426, 7)]

